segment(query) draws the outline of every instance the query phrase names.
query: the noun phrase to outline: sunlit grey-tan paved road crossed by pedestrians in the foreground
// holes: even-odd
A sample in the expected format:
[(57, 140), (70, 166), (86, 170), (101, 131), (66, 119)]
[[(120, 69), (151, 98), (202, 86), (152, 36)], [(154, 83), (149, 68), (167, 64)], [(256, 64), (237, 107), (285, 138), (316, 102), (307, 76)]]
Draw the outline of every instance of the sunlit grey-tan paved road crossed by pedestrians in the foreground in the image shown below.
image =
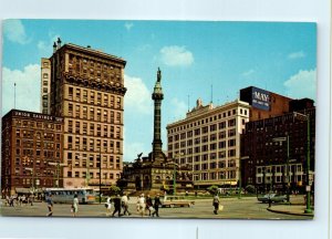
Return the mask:
[[(212, 214), (211, 199), (196, 200), (190, 208), (160, 208), (160, 218), (224, 218), (224, 219), (311, 219), (305, 216), (292, 216), (276, 214), (267, 210), (268, 205), (258, 202), (256, 197), (221, 198), (224, 210), (218, 215)], [(122, 218), (138, 218), (135, 200), (129, 201), (132, 216)], [(2, 216), (32, 216), (45, 217), (48, 212), (45, 202), (35, 202), (33, 206), (2, 207)], [(54, 205), (54, 217), (71, 217), (70, 205)], [(103, 204), (80, 205), (77, 217), (106, 217), (106, 209)], [(144, 217), (148, 218), (148, 217)]]

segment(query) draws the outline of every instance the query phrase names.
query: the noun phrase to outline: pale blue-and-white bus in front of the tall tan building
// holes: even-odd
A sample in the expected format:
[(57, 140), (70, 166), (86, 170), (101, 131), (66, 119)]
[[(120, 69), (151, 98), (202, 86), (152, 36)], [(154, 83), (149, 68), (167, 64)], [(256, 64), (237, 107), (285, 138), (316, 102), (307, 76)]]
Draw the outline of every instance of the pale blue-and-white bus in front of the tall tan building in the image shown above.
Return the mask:
[(95, 194), (92, 188), (46, 188), (44, 194), (52, 194), (54, 204), (72, 204), (74, 195), (77, 195), (80, 204), (95, 202)]

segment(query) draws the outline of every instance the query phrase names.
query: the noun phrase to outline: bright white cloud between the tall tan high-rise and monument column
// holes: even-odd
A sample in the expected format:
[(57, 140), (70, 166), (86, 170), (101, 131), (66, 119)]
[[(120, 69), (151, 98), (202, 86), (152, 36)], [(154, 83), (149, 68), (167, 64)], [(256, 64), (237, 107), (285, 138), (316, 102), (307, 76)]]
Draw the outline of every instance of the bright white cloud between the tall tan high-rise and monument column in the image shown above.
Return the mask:
[(125, 95), (126, 111), (151, 114), (153, 112), (151, 92), (142, 79), (125, 75), (125, 86), (127, 87)]

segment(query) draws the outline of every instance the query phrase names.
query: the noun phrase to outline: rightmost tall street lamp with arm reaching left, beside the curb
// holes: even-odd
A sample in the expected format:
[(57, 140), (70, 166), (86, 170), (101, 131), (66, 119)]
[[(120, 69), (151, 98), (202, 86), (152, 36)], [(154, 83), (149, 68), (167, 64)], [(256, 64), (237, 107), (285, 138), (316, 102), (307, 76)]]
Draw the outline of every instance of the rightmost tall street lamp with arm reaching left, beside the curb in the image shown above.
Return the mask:
[(307, 174), (307, 207), (304, 212), (305, 214), (311, 214), (312, 209), (311, 209), (311, 185), (312, 185), (312, 180), (310, 178), (310, 115), (309, 114), (301, 114), (298, 112), (293, 112), (293, 116), (294, 118), (299, 119), (299, 121), (307, 121), (307, 169), (305, 169), (305, 174)]

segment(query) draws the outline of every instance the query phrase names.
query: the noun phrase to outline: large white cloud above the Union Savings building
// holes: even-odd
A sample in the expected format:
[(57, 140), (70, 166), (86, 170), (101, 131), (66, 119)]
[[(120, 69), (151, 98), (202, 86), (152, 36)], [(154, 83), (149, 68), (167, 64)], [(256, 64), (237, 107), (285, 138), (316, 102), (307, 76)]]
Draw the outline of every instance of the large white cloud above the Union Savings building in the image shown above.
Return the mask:
[(29, 64), (23, 71), (2, 70), (2, 115), (14, 107), (23, 111), (40, 112), (40, 65)]

